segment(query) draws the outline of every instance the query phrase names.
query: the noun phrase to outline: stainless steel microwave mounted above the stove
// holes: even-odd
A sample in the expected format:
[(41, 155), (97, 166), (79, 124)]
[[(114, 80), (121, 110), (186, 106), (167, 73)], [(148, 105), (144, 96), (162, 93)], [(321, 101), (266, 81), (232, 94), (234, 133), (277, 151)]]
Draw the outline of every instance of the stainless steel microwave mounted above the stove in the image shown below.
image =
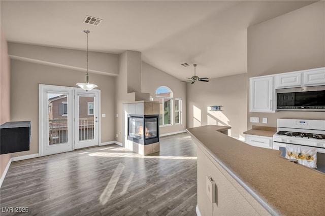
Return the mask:
[(325, 111), (325, 86), (276, 89), (276, 111)]

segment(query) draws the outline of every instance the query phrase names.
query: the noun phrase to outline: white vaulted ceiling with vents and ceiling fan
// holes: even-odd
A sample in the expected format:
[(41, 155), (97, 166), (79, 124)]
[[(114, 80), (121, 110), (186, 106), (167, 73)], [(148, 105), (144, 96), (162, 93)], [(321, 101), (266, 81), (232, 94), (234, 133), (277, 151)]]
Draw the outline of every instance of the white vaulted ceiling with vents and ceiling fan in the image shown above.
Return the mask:
[[(184, 80), (247, 71), (247, 27), (315, 1), (1, 1), (9, 42), (121, 53)], [(83, 23), (86, 15), (103, 19)]]

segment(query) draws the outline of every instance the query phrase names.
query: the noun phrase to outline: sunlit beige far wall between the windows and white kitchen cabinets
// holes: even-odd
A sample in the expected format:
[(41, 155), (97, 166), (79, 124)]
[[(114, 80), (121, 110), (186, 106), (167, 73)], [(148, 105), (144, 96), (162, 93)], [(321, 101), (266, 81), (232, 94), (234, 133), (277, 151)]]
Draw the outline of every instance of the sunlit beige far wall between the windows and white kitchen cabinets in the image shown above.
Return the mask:
[[(246, 130), (246, 73), (187, 84), (187, 127), (229, 125), (229, 135), (243, 138)], [(222, 112), (209, 111), (222, 105)]]

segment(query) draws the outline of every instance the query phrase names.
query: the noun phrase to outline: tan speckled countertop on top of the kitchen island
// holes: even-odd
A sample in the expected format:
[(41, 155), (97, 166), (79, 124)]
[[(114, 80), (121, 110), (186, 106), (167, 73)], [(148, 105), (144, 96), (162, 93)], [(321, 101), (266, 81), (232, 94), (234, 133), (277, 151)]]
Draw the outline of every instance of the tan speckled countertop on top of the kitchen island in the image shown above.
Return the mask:
[(324, 215), (325, 174), (206, 125), (187, 132), (271, 214)]

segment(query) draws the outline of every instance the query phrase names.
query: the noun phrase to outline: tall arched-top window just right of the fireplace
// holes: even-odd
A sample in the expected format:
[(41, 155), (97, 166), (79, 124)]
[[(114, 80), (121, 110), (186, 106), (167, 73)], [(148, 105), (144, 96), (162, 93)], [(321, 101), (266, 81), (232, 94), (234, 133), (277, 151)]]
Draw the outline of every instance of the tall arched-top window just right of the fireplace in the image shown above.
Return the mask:
[(172, 125), (173, 118), (173, 92), (166, 86), (160, 86), (156, 90), (156, 101), (160, 103), (159, 125)]

